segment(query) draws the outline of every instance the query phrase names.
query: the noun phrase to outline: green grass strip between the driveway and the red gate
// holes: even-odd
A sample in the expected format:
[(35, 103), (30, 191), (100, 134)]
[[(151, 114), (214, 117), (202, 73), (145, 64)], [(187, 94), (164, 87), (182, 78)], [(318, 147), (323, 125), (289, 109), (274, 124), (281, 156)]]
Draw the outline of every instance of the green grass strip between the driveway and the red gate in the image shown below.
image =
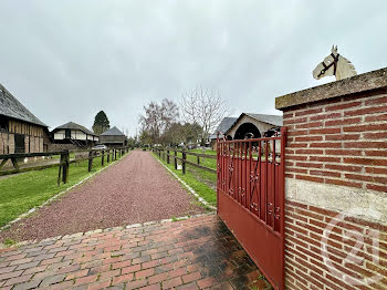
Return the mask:
[[(158, 158), (156, 154), (154, 154), (154, 156)], [(178, 154), (178, 156), (181, 157), (181, 154)], [(194, 160), (196, 160), (196, 156), (191, 156), (191, 157), (194, 157), (195, 158)], [(188, 155), (187, 155), (187, 158), (189, 158)], [(216, 159), (207, 159), (207, 160), (215, 162), (215, 168), (217, 167)], [(164, 162), (163, 159), (160, 159), (160, 162), (165, 164), (169, 169), (171, 169), (184, 182), (186, 182), (190, 187), (192, 187), (194, 190), (199, 196), (205, 198), (207, 203), (209, 203), (212, 206), (217, 205), (217, 190), (216, 190), (217, 175), (216, 174), (202, 170), (200, 168), (196, 168), (190, 165), (187, 165), (186, 174), (182, 174), (181, 170), (175, 169), (172, 158), (170, 158), (170, 164), (167, 164), (167, 162)], [(200, 163), (200, 164), (207, 167), (207, 165), (205, 165), (203, 163)]]

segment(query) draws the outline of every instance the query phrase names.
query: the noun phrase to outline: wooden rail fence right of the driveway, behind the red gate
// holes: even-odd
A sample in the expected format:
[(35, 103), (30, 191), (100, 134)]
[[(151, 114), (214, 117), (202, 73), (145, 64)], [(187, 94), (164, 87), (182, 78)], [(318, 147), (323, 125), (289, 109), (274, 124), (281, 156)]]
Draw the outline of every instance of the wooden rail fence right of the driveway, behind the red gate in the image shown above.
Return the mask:
[[(206, 166), (200, 165), (200, 157), (201, 158), (210, 158), (210, 159), (217, 159), (217, 155), (210, 155), (210, 154), (200, 154), (200, 153), (194, 153), (194, 152), (187, 152), (187, 151), (180, 151), (180, 149), (176, 149), (176, 148), (154, 148), (153, 149), (154, 153), (156, 153), (158, 155), (158, 157), (163, 160), (166, 160), (167, 164), (170, 164), (170, 159), (174, 159), (174, 164), (175, 164), (175, 169), (177, 169), (177, 160), (181, 162), (181, 172), (182, 174), (186, 174), (186, 165), (189, 164), (194, 167), (207, 170), (209, 173), (217, 173), (216, 169), (212, 168), (208, 168)], [(174, 154), (171, 154), (174, 153)], [(181, 157), (177, 156), (177, 153), (181, 153)], [(191, 155), (191, 156), (196, 156), (197, 157), (197, 162), (190, 162), (187, 160), (187, 155)]]

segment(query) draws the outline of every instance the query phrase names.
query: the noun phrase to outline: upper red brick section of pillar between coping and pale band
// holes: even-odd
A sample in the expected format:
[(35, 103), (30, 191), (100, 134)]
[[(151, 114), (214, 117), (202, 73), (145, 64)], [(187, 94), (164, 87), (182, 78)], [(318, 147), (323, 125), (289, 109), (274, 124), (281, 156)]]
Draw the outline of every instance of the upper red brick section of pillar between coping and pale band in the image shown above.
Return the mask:
[(286, 177), (387, 191), (387, 93), (284, 110)]

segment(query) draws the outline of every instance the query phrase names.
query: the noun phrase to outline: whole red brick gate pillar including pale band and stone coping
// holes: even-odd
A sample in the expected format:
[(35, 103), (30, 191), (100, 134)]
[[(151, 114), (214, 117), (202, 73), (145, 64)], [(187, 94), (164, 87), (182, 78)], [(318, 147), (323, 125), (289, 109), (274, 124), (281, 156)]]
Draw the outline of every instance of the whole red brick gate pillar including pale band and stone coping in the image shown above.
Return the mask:
[(387, 289), (387, 69), (276, 107), (289, 132), (286, 289)]

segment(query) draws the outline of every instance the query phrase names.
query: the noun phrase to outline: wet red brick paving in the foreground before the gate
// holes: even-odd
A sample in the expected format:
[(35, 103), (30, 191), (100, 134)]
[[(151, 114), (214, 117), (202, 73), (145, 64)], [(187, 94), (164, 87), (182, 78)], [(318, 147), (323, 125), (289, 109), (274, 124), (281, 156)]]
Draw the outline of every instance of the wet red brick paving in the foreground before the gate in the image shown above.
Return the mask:
[(0, 289), (271, 289), (216, 215), (0, 249)]

